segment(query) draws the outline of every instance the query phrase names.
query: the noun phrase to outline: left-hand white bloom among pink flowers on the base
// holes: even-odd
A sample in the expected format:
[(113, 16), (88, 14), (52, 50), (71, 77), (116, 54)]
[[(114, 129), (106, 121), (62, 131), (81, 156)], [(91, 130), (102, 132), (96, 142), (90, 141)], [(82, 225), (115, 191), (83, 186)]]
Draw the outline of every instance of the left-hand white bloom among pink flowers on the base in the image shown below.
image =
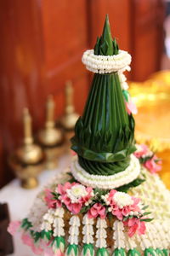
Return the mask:
[(71, 199), (71, 203), (77, 203), (82, 197), (88, 195), (86, 188), (81, 184), (76, 184), (71, 189), (66, 189), (66, 193)]

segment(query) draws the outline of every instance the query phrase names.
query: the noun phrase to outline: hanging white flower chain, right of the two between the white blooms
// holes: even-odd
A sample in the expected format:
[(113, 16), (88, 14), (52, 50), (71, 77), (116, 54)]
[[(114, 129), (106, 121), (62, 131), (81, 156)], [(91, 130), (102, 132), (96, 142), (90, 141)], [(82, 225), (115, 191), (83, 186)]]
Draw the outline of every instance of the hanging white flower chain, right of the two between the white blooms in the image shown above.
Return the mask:
[(106, 243), (107, 233), (106, 233), (105, 229), (107, 228), (107, 224), (106, 224), (105, 218), (98, 218), (96, 228), (97, 228), (96, 247), (106, 248), (107, 247), (107, 243)]

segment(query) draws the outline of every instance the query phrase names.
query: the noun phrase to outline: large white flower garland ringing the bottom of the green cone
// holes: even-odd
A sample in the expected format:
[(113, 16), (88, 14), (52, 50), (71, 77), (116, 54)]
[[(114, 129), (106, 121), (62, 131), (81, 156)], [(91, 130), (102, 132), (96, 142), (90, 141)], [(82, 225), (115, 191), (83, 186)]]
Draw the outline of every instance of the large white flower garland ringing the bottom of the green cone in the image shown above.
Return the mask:
[(98, 187), (99, 189), (116, 189), (132, 182), (139, 176), (140, 164), (139, 160), (131, 154), (130, 165), (124, 171), (110, 176), (102, 176), (89, 174), (79, 165), (77, 158), (75, 158), (71, 163), (71, 173), (83, 185), (92, 188)]

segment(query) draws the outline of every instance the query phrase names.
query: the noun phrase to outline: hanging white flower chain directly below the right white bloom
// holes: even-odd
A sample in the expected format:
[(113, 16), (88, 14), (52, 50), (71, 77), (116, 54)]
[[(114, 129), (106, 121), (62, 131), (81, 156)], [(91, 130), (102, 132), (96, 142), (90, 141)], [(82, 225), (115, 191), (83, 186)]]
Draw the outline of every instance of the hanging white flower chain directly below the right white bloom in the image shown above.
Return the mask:
[(116, 220), (113, 224), (113, 239), (114, 247), (121, 249), (125, 248), (125, 236), (124, 236), (124, 225), (121, 221)]

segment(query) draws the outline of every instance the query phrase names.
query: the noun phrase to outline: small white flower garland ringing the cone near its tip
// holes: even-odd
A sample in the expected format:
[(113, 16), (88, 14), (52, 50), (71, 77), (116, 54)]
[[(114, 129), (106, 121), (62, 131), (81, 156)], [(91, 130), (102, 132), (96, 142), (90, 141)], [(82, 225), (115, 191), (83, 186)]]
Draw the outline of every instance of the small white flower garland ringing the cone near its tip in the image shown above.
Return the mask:
[(88, 49), (82, 55), (82, 63), (93, 73), (112, 73), (125, 68), (129, 70), (131, 55), (119, 49), (118, 55), (94, 55), (94, 49)]

